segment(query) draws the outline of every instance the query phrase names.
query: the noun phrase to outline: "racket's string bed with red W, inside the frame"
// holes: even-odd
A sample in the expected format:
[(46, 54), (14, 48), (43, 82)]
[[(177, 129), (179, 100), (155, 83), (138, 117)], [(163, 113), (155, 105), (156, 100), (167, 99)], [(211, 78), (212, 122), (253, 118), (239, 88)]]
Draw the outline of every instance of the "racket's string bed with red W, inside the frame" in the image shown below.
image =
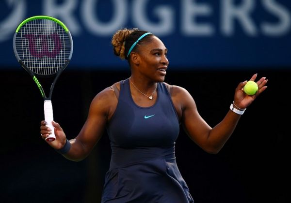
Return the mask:
[(16, 51), (32, 72), (50, 75), (64, 67), (71, 53), (71, 40), (60, 24), (34, 19), (18, 30)]

